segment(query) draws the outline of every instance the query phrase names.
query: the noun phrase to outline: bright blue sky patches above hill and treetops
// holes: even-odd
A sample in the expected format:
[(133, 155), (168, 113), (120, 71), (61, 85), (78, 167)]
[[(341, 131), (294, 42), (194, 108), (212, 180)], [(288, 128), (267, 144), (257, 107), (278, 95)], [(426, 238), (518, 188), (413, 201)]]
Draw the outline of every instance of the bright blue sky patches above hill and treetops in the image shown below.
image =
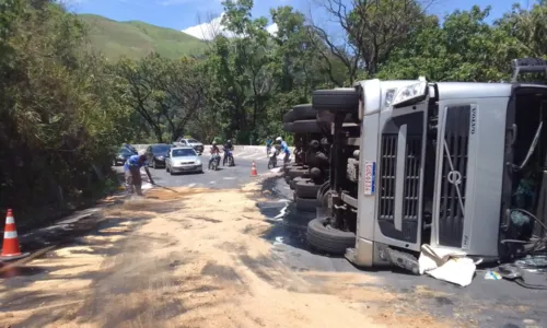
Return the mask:
[[(94, 13), (115, 21), (143, 21), (153, 25), (185, 30), (199, 24), (208, 17), (222, 13), (222, 0), (60, 0), (69, 10), (77, 13)], [(292, 5), (304, 13), (317, 11), (317, 2), (322, 0), (255, 0), (253, 15), (269, 16), (270, 8)], [(348, 3), (350, 0), (344, 0)], [(466, 10), (474, 4), (491, 5), (490, 19), (500, 17), (511, 9), (511, 4), (519, 0), (438, 0), (429, 9), (430, 13), (443, 16), (455, 9)], [(533, 0), (520, 1), (523, 7), (533, 3)], [(531, 5), (531, 4), (529, 4)], [(314, 13), (316, 17), (321, 14)], [(197, 31), (194, 28), (189, 31)]]

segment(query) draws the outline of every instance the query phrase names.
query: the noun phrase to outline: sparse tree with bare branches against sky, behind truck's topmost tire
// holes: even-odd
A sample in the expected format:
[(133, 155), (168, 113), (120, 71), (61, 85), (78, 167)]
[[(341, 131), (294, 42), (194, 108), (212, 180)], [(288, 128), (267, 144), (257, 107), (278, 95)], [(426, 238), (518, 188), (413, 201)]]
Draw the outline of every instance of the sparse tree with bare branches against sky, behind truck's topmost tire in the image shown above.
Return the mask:
[[(344, 30), (345, 37), (336, 43), (324, 28), (314, 24), (315, 32), (330, 52), (346, 66), (352, 84), (359, 70), (373, 77), (389, 58), (392, 51), (419, 28), (424, 11), (434, 0), (323, 0), (326, 12)], [(325, 60), (328, 60), (326, 56)]]

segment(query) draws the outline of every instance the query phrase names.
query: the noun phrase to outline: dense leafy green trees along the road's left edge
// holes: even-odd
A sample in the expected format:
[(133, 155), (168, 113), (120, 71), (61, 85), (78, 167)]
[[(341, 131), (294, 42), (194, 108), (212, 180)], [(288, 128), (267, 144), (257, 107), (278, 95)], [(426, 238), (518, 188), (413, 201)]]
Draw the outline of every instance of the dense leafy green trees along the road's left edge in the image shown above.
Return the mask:
[(0, 206), (39, 224), (101, 194), (130, 110), (80, 20), (53, 0), (0, 3)]

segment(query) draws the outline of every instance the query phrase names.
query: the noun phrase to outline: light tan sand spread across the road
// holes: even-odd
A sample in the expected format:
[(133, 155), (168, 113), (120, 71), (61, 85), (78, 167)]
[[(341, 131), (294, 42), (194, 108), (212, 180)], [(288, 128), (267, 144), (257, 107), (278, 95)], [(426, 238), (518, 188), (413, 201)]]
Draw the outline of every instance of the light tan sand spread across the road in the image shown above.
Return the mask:
[(0, 323), (455, 327), (412, 311), (366, 273), (294, 272), (284, 266), (263, 237), (271, 225), (256, 207), (258, 183), (238, 190), (176, 190), (153, 189), (105, 210), (95, 233), (32, 262), (43, 277), (5, 280)]

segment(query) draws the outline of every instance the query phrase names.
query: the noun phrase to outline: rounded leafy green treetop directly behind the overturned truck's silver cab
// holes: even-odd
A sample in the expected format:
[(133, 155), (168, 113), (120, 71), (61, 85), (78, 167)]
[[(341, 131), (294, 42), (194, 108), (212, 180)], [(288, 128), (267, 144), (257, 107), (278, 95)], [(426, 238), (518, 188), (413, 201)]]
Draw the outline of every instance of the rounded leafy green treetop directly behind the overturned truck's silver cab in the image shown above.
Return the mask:
[(510, 77), (510, 61), (525, 57), (514, 37), (486, 22), (490, 9), (455, 11), (441, 26), (431, 17), (408, 42), (394, 49), (379, 73), (384, 79), (500, 81)]

